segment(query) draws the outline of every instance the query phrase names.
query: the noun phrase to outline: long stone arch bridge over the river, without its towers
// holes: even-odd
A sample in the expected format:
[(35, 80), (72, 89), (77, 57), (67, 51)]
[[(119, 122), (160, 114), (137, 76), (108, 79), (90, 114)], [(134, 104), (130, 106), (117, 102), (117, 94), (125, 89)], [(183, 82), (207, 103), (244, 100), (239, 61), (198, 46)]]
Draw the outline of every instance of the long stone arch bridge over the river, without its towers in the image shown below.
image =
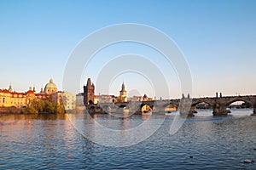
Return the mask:
[[(166, 107), (174, 105), (178, 108), (181, 115), (194, 116), (193, 112), (198, 104), (206, 103), (212, 107), (213, 116), (225, 116), (228, 114), (227, 108), (230, 104), (236, 101), (244, 101), (253, 108), (253, 114), (256, 114), (256, 95), (247, 96), (225, 96), (213, 98), (182, 98), (182, 99), (167, 99), (167, 100), (152, 100), (152, 101), (133, 101), (133, 102), (117, 102), (117, 103), (104, 103), (98, 105), (87, 105), (87, 109), (92, 112), (108, 112), (120, 111), (128, 109), (129, 112), (141, 114), (143, 111), (166, 111)], [(147, 106), (147, 107), (144, 107)], [(145, 108), (143, 110), (143, 108)]]

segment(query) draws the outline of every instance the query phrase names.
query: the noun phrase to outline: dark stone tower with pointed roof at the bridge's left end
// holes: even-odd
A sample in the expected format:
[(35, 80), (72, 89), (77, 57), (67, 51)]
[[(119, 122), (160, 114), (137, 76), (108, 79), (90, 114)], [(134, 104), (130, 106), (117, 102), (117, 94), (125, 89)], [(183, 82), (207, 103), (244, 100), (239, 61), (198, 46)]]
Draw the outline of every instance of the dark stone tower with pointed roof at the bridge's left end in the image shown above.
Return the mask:
[(90, 82), (90, 78), (87, 79), (87, 84), (84, 86), (84, 105), (94, 104), (94, 84)]

